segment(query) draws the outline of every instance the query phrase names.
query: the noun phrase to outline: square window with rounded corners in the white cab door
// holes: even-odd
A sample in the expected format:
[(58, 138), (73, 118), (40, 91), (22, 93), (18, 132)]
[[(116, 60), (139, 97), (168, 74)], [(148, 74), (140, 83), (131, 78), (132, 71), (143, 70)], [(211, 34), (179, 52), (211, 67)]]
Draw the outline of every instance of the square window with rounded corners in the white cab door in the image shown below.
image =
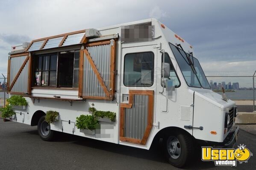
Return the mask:
[(124, 85), (151, 86), (154, 79), (154, 54), (131, 53), (124, 56)]

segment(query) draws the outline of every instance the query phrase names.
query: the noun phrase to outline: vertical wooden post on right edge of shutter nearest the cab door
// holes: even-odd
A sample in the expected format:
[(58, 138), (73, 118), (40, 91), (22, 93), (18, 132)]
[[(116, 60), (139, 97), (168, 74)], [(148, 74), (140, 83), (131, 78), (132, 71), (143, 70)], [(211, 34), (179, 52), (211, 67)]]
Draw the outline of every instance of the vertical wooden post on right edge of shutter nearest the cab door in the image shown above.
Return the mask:
[(113, 42), (113, 45), (110, 49), (110, 76), (109, 76), (109, 85), (112, 89), (111, 96), (115, 96), (115, 51), (116, 51), (116, 41)]

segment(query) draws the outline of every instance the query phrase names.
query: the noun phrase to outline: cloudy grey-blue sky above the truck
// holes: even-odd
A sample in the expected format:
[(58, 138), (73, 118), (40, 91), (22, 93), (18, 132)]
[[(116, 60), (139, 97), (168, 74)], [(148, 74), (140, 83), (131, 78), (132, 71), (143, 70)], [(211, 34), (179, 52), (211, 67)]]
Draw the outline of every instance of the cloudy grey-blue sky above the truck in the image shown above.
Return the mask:
[(255, 0), (0, 0), (0, 73), (11, 45), (147, 18), (190, 43), (206, 73), (253, 73), (255, 9)]

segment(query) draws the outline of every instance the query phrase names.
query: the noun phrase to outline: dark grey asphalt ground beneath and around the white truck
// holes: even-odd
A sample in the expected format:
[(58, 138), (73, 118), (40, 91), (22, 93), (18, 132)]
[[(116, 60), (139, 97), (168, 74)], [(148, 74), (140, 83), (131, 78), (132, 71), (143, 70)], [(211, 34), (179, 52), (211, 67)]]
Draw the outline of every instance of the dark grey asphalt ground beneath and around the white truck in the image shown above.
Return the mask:
[[(245, 128), (244, 128), (245, 127)], [(256, 133), (242, 127), (238, 144), (245, 144), (253, 153), (248, 163), (237, 167), (215, 167), (214, 162), (194, 161), (185, 169), (256, 169)], [(255, 129), (256, 125), (253, 126)], [(244, 129), (244, 130), (243, 130)], [(196, 155), (196, 154), (195, 154)], [(170, 170), (161, 146), (154, 143), (150, 150), (126, 147), (79, 136), (58, 133), (52, 142), (42, 141), (37, 126), (3, 122), (0, 119), (0, 170)]]

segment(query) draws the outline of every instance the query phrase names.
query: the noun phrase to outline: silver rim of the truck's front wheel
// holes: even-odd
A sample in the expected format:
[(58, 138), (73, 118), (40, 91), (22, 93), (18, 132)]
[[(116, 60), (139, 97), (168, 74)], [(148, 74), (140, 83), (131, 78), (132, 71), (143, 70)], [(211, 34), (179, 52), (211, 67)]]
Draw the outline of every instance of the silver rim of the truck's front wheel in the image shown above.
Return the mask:
[(167, 141), (167, 149), (171, 158), (179, 158), (181, 148), (178, 138), (170, 136)]

